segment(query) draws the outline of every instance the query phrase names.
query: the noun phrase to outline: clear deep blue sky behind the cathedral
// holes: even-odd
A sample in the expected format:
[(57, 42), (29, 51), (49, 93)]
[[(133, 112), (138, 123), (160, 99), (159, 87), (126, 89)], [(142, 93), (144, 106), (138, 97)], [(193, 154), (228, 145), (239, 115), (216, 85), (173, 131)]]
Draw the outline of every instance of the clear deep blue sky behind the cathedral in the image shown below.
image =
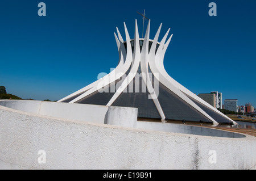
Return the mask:
[[(38, 3), (46, 16), (38, 16)], [(210, 2), (217, 16), (209, 16)], [(222, 92), (256, 107), (256, 1), (0, 1), (0, 86), (23, 99), (59, 100), (118, 64), (114, 32), (151, 19), (154, 35), (174, 34), (167, 72), (192, 92)], [(142, 34), (142, 32), (141, 32)]]

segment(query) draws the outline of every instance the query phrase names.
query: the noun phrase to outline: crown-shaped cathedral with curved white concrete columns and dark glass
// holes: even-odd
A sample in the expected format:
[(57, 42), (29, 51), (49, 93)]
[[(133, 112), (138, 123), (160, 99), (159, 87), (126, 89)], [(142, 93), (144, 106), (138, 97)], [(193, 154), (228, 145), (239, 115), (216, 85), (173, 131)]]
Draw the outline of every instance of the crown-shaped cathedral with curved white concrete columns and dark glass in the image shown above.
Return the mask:
[(170, 28), (158, 41), (162, 23), (154, 39), (150, 39), (150, 20), (142, 38), (139, 37), (137, 20), (134, 39), (130, 39), (126, 24), (124, 26), (126, 40), (118, 28), (118, 37), (114, 33), (119, 52), (117, 67), (58, 102), (137, 107), (138, 118), (144, 120), (234, 123), (168, 75), (163, 60), (172, 38), (171, 35), (167, 40)]

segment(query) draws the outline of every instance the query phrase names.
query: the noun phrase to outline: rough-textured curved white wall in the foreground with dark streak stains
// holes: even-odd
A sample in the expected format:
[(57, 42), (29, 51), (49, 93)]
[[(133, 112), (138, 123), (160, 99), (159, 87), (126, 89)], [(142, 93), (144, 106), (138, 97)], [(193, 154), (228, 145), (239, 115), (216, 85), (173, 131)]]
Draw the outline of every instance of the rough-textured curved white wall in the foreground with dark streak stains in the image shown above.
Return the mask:
[[(3, 106), (0, 125), (0, 169), (255, 169), (256, 164), (253, 136), (150, 131)], [(39, 150), (46, 151), (46, 163), (38, 162)]]

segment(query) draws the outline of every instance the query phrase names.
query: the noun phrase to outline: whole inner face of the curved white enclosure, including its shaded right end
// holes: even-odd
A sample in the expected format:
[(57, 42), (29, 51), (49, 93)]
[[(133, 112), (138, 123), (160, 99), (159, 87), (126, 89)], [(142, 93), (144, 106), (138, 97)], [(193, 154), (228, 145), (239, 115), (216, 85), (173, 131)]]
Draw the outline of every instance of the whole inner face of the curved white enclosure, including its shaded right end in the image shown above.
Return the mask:
[(98, 106), (92, 104), (42, 102), (38, 100), (0, 100), (0, 106), (91, 123), (111, 124), (129, 128), (148, 129), (201, 136), (242, 138), (244, 134), (192, 125), (137, 121), (138, 108)]

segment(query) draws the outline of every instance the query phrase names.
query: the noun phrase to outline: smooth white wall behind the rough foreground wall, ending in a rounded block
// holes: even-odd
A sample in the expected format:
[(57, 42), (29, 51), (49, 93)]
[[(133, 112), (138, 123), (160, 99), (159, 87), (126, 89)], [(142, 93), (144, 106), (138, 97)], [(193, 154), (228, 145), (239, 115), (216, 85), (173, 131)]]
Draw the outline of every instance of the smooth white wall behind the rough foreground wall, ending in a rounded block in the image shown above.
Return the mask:
[[(138, 114), (138, 108), (56, 103), (39, 100), (0, 100), (0, 106), (38, 113), (39, 115), (117, 125), (126, 125), (130, 124), (130, 122), (136, 123)], [(115, 110), (114, 114), (109, 115), (111, 112), (109, 110)], [(116, 120), (115, 123), (110, 120), (108, 121), (108, 117), (111, 120)], [(118, 123), (118, 120), (122, 121)]]

